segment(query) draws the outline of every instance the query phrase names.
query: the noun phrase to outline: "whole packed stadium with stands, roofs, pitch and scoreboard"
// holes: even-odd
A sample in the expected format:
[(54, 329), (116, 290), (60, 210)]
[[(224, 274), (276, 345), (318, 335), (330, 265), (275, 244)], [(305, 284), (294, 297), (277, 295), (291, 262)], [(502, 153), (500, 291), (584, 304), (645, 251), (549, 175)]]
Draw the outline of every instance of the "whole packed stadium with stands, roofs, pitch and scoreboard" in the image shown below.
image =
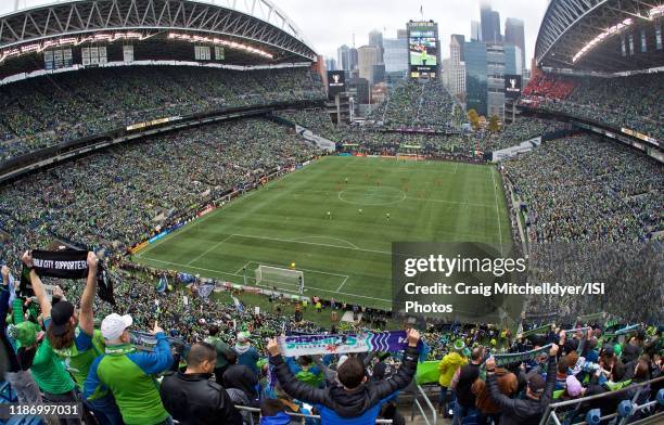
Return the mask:
[[(661, 423), (663, 14), (551, 0), (499, 125), (433, 21), (342, 124), (278, 0), (0, 15), (0, 421)], [(602, 293), (409, 312), (411, 246)]]

